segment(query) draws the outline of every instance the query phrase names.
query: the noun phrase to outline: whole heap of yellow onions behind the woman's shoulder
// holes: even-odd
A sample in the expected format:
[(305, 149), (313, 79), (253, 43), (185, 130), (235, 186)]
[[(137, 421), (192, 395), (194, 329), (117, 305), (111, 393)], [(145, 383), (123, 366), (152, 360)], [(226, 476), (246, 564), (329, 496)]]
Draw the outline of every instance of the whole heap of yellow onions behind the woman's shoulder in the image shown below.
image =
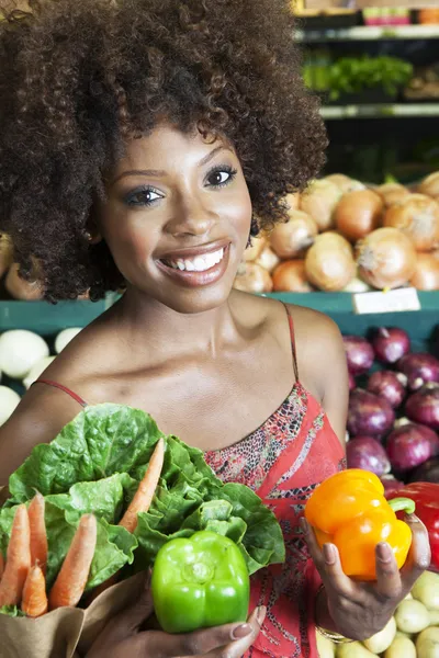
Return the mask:
[(237, 288), (439, 290), (439, 172), (413, 188), (331, 174), (284, 203), (288, 220), (252, 240)]

